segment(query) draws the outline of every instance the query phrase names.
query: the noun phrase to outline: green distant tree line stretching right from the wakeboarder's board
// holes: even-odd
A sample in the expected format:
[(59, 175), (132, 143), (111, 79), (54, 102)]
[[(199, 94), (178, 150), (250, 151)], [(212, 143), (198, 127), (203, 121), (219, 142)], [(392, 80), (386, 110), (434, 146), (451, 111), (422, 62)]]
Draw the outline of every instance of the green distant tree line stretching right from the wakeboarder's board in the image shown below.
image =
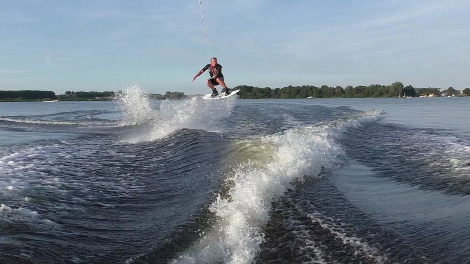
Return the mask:
[[(452, 87), (449, 87), (449, 89)], [(411, 96), (416, 97), (421, 94), (429, 95), (429, 93), (439, 94), (439, 88), (415, 88), (412, 85), (404, 86), (401, 82), (394, 82), (391, 85), (358, 85), (352, 87), (347, 85), (345, 88), (341, 86), (322, 85), (320, 87), (313, 85), (302, 86), (286, 86), (283, 88), (255, 87), (249, 85), (238, 85), (233, 90), (240, 89), (238, 92), (241, 99), (258, 99), (258, 98), (360, 98), (360, 97), (399, 97)], [(455, 94), (453, 89), (447, 91), (449, 94)], [(469, 88), (467, 88), (469, 89)], [(467, 90), (465, 89), (464, 92)], [(470, 89), (469, 89), (470, 90)], [(470, 92), (470, 91), (469, 91)], [(470, 93), (468, 93), (470, 95)]]

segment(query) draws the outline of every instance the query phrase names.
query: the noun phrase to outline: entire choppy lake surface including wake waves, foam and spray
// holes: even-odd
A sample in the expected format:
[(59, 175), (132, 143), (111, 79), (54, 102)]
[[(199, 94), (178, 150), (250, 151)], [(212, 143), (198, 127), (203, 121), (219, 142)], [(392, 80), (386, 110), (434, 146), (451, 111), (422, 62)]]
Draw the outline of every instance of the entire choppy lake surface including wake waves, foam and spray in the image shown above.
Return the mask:
[(469, 98), (128, 92), (0, 103), (3, 263), (470, 262)]

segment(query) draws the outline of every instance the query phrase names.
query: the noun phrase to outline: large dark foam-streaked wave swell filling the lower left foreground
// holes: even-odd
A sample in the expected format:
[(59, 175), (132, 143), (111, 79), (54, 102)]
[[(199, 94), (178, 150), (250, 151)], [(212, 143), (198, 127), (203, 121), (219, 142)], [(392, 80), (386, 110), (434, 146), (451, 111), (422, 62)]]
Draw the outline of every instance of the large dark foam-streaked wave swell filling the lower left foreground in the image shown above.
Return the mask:
[[(38, 257), (48, 248), (51, 254), (36, 262), (117, 263), (143, 252), (220, 189), (212, 163), (226, 149), (213, 147), (226, 144), (224, 137), (182, 129), (141, 144), (86, 135), (1, 149), (0, 230), (21, 227), (34, 241), (29, 244), (24, 233), (7, 235), (2, 256), (31, 263), (16, 256), (18, 250), (27, 247), (24, 252)], [(15, 240), (20, 246), (12, 245)], [(66, 248), (64, 241), (78, 242)], [(125, 248), (113, 251), (110, 244)]]

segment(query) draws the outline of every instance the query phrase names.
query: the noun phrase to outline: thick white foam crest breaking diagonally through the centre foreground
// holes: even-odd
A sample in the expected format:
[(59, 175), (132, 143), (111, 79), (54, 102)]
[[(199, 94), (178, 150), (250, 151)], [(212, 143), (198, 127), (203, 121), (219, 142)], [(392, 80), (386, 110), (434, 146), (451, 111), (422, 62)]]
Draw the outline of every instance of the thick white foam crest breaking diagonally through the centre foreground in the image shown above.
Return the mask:
[[(215, 100), (214, 100), (215, 101)], [(262, 226), (269, 220), (271, 202), (280, 198), (294, 179), (315, 177), (322, 167), (331, 168), (343, 153), (332, 135), (347, 126), (376, 119), (378, 113), (362, 113), (335, 122), (266, 136), (260, 140), (274, 148), (265, 164), (244, 163), (228, 180), (229, 198), (218, 197), (210, 209), (219, 222), (172, 263), (251, 263), (263, 240)]]

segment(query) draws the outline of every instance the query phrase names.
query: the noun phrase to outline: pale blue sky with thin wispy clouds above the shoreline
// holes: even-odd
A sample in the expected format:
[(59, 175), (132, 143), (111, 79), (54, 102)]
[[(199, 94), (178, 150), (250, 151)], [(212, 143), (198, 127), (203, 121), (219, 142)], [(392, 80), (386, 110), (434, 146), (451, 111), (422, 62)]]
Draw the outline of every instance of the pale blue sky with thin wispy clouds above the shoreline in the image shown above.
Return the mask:
[[(468, 0), (202, 0), (236, 85), (470, 87)], [(199, 0), (0, 0), (0, 90), (209, 93)]]

